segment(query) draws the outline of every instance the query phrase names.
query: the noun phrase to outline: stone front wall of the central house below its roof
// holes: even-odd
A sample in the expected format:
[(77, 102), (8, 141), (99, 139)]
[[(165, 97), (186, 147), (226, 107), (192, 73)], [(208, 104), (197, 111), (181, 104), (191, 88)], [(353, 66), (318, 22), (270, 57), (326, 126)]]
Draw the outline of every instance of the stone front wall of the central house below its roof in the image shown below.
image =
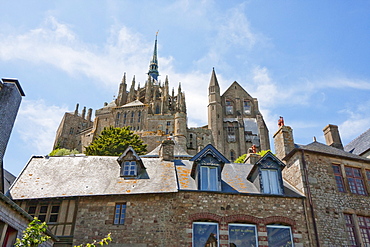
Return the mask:
[[(112, 233), (112, 246), (192, 246), (192, 223), (219, 224), (220, 246), (228, 246), (228, 223), (246, 222), (258, 229), (267, 246), (266, 225), (292, 227), (296, 247), (308, 246), (303, 198), (207, 192), (81, 197), (73, 244)], [(116, 203), (126, 203), (124, 225), (114, 225)]]

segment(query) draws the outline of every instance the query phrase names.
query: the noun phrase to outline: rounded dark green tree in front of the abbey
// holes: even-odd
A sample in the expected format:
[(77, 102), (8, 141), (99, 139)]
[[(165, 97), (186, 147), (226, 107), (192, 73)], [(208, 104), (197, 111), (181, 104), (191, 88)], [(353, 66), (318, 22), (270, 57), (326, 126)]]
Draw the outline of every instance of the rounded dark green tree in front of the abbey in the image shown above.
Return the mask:
[(101, 134), (86, 147), (86, 155), (119, 156), (128, 146), (138, 155), (146, 152), (146, 144), (129, 127), (104, 128)]

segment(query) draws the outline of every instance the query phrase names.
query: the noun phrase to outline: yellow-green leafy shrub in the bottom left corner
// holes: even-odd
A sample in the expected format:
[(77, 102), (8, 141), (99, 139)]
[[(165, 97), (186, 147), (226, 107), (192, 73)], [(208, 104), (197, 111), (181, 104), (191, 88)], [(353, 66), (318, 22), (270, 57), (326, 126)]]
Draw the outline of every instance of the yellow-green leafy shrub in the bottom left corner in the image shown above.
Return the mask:
[(47, 241), (50, 237), (45, 235), (47, 225), (41, 223), (36, 217), (28, 224), (26, 230), (23, 231), (22, 239), (17, 238), (14, 246), (16, 247), (34, 247)]

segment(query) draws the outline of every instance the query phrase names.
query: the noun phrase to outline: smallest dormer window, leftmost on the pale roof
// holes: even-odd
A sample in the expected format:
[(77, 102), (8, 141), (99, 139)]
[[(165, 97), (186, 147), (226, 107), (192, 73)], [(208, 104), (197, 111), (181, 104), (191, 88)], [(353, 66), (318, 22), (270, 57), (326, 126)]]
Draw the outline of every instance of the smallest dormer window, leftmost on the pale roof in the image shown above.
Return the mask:
[(127, 179), (147, 178), (144, 164), (132, 147), (128, 147), (117, 161), (121, 166), (121, 177)]

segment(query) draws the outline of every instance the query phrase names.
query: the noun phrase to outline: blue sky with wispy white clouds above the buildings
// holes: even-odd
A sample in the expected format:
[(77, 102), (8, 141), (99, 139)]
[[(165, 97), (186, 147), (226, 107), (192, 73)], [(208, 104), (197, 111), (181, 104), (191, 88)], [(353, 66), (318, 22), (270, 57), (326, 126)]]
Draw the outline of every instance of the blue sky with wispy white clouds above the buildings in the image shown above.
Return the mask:
[(370, 127), (370, 1), (0, 0), (0, 77), (26, 94), (5, 153), (18, 175), (52, 150), (65, 112), (99, 109), (124, 72), (143, 86), (158, 33), (160, 79), (181, 82), (188, 127), (207, 124), (212, 68), (224, 92), (237, 81), (299, 144), (343, 144)]

